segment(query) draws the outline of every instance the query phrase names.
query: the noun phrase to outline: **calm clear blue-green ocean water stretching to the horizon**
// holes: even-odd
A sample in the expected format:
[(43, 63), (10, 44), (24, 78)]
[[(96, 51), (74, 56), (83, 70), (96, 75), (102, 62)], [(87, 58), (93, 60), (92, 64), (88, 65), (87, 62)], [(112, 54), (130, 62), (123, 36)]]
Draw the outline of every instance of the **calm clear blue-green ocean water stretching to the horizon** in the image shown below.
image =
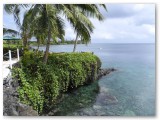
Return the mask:
[[(40, 47), (40, 50), (44, 49)], [(50, 52), (72, 52), (72, 49), (73, 45), (50, 46)], [(80, 108), (69, 115), (156, 114), (155, 44), (99, 43), (77, 45), (77, 51), (92, 51), (101, 59), (102, 68), (113, 67), (117, 71), (99, 80), (100, 92), (92, 106)]]

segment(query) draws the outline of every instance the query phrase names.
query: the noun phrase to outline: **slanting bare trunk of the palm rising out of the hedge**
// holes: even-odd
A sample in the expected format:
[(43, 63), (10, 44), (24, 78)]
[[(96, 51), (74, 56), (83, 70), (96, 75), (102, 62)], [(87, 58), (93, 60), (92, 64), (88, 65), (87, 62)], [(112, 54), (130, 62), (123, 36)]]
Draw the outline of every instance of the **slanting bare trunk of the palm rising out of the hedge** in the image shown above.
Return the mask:
[(47, 60), (48, 60), (50, 39), (51, 39), (51, 30), (50, 30), (50, 28), (49, 28), (49, 29), (48, 29), (48, 40), (47, 40), (47, 44), (46, 44), (46, 51), (45, 51), (44, 59), (43, 59), (43, 63), (45, 63), (45, 64), (47, 63)]

